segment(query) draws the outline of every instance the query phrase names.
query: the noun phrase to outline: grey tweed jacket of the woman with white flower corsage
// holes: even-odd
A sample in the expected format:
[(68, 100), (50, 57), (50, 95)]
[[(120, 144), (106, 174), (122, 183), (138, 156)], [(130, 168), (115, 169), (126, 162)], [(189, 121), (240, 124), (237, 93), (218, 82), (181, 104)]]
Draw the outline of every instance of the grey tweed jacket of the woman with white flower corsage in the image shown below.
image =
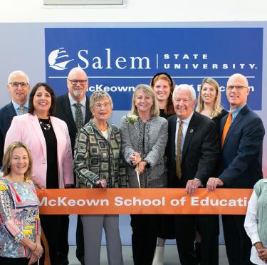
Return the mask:
[(145, 172), (140, 175), (141, 187), (167, 187), (167, 170), (164, 151), (168, 140), (168, 122), (158, 116), (152, 116), (147, 123), (139, 118), (130, 124), (126, 116), (122, 117), (120, 133), (122, 137), (122, 155), (127, 162), (129, 187), (138, 187), (135, 167), (130, 162), (133, 152), (139, 152), (142, 160), (148, 162)]

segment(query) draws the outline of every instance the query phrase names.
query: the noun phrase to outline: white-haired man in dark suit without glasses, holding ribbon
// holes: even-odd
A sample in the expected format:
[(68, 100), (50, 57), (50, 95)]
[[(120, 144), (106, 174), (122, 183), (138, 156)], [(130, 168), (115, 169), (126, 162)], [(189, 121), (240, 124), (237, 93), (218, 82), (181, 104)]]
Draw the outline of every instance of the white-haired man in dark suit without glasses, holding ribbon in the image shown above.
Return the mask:
[[(169, 138), (166, 155), (169, 187), (185, 188), (187, 194), (191, 195), (198, 187), (204, 187), (214, 172), (219, 155), (216, 125), (206, 116), (194, 112), (197, 103), (196, 92), (190, 85), (178, 85), (174, 89), (172, 101), (177, 115), (168, 120)], [(182, 157), (180, 170), (177, 172), (179, 150), (177, 138), (180, 120), (182, 120)], [(208, 260), (209, 256), (215, 256), (212, 258), (213, 261), (203, 264), (218, 264), (218, 232), (213, 229), (218, 225), (216, 219), (215, 224), (213, 220), (209, 224), (204, 224), (200, 215), (179, 214), (175, 216), (175, 234), (181, 264), (198, 264), (194, 251), (197, 225), (201, 234), (204, 258)]]

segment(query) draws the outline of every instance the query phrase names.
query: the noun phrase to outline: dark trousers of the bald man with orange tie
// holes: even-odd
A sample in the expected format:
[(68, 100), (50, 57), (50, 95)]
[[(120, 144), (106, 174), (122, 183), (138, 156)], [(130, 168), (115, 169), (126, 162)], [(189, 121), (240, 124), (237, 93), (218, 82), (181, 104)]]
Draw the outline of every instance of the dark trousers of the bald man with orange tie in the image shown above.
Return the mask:
[(251, 239), (244, 229), (245, 215), (222, 215), (229, 265), (251, 265)]

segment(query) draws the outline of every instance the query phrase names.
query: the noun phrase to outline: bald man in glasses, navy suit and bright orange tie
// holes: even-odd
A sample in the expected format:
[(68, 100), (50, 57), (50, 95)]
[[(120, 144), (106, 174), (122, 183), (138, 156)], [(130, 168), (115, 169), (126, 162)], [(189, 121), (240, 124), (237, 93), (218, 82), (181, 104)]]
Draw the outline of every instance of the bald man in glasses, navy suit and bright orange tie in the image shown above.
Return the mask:
[[(262, 147), (264, 127), (261, 118), (246, 104), (249, 94), (248, 80), (236, 73), (230, 76), (226, 95), (230, 103), (229, 115), (221, 119), (218, 177), (211, 177), (207, 189), (216, 187), (253, 188), (263, 177)], [(230, 120), (229, 130), (226, 130)], [(226, 136), (225, 136), (226, 135)], [(229, 265), (252, 264), (251, 240), (244, 229), (244, 215), (223, 215), (224, 239)]]

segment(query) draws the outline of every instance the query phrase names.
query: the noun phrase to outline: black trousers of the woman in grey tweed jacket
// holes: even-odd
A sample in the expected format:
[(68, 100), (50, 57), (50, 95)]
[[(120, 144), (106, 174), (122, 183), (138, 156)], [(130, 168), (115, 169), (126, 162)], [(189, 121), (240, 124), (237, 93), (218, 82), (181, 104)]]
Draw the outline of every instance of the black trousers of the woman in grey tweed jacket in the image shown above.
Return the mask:
[(157, 245), (157, 215), (131, 214), (132, 256), (135, 265), (151, 265)]

